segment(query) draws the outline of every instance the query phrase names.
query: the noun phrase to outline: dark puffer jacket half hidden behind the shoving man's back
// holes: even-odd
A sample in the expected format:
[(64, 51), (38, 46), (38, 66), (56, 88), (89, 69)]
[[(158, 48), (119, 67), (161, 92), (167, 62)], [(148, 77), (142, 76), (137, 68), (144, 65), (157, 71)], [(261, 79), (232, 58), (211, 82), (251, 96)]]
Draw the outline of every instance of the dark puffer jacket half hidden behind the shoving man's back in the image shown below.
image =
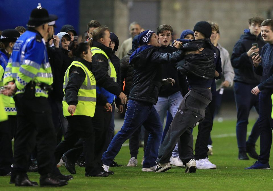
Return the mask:
[[(120, 60), (120, 70), (121, 70), (121, 83), (123, 83), (125, 79), (125, 86), (124, 86), (124, 94), (126, 96), (129, 96), (131, 86), (132, 86), (132, 76), (133, 76), (133, 70), (134, 70), (134, 65), (129, 65), (129, 59), (130, 56), (133, 54), (132, 49), (129, 50), (126, 56), (124, 56)], [(123, 86), (123, 84), (122, 84)], [(122, 87), (121, 87), (122, 88)]]

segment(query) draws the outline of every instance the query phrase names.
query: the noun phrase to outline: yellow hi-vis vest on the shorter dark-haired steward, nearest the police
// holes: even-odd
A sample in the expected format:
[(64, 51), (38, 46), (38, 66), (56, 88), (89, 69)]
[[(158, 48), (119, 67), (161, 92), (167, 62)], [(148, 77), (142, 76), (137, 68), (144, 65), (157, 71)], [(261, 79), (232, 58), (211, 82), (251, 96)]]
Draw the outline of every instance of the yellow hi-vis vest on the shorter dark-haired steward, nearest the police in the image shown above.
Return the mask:
[[(63, 82), (63, 92), (65, 93), (65, 88), (69, 80), (69, 70), (71, 66), (80, 67), (86, 74), (84, 82), (80, 86), (78, 91), (78, 104), (76, 105), (76, 111), (73, 115), (86, 115), (93, 117), (96, 107), (96, 80), (94, 75), (84, 64), (73, 61), (71, 65), (67, 68), (65, 72), (65, 78)], [(67, 111), (68, 104), (63, 97), (63, 115), (64, 117), (70, 116), (71, 114)]]

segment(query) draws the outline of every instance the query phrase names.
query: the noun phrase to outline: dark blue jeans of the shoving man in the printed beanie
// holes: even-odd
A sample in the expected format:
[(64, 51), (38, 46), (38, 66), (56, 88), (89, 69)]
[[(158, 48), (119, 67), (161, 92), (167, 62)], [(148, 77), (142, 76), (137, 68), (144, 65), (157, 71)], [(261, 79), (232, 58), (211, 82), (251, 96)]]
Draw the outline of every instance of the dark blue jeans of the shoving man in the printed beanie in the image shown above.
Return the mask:
[(156, 165), (158, 148), (162, 136), (162, 123), (154, 105), (136, 100), (129, 100), (121, 130), (112, 139), (107, 151), (102, 155), (102, 162), (110, 166), (120, 151), (122, 144), (143, 125), (150, 132), (146, 150), (144, 152), (143, 168)]

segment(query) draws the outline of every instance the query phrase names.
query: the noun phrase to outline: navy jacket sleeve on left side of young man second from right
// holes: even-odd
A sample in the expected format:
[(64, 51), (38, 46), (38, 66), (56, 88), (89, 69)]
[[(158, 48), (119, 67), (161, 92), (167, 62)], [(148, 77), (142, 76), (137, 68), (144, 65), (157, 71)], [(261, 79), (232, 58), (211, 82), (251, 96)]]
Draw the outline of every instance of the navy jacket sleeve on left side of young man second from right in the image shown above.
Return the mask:
[(242, 68), (245, 67), (245, 63), (247, 63), (249, 57), (247, 56), (247, 50), (241, 41), (237, 41), (237, 43), (233, 47), (233, 52), (231, 55), (231, 65), (233, 68)]

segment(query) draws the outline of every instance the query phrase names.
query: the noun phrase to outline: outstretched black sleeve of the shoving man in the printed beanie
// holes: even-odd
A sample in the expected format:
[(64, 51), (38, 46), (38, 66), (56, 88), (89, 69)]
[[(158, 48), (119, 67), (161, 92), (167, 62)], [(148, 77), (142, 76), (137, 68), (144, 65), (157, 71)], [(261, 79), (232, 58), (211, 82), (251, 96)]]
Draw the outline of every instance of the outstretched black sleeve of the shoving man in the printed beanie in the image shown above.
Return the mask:
[(150, 58), (151, 62), (162, 63), (176, 63), (184, 58), (181, 51), (176, 51), (173, 53), (160, 53), (158, 51), (154, 52)]

